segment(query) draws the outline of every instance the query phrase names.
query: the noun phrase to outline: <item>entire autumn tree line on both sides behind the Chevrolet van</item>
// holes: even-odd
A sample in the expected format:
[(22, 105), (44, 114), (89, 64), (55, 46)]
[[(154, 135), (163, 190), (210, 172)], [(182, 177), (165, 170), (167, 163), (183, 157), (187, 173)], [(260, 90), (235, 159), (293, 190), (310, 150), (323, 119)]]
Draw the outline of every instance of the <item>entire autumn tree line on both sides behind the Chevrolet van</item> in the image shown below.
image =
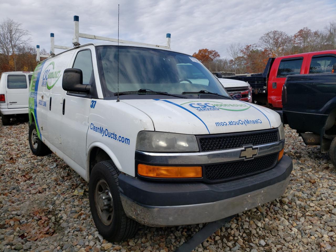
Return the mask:
[[(36, 48), (30, 44), (28, 30), (22, 24), (7, 18), (0, 23), (0, 74), (12, 71), (34, 71)], [(323, 30), (304, 27), (294, 35), (283, 31), (269, 31), (254, 44), (232, 43), (226, 49), (228, 57), (220, 57), (215, 50), (200, 49), (193, 54), (212, 72), (236, 74), (260, 73), (269, 57), (303, 52), (336, 49), (336, 21)], [(49, 54), (45, 49), (41, 54)]]

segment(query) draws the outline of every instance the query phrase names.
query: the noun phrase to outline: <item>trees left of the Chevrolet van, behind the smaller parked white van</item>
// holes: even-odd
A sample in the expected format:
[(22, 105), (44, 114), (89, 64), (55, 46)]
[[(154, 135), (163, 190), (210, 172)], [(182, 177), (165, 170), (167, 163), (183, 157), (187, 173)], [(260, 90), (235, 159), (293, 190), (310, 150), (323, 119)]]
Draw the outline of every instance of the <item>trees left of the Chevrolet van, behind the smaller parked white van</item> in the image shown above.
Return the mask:
[[(36, 48), (28, 30), (10, 18), (0, 23), (0, 75), (3, 72), (34, 71)], [(42, 54), (48, 54), (45, 49)]]

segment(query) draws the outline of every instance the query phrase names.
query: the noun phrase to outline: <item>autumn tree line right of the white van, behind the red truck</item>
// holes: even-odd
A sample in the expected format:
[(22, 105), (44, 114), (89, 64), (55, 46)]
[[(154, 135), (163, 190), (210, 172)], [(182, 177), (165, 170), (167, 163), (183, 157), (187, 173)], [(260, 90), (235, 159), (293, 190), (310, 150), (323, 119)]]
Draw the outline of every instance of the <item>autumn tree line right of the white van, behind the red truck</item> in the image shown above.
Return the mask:
[(193, 54), (211, 72), (236, 74), (263, 72), (269, 57), (336, 49), (336, 21), (323, 30), (312, 31), (308, 27), (294, 35), (283, 31), (269, 31), (254, 44), (232, 43), (226, 49), (228, 57), (220, 57), (215, 50), (200, 49)]

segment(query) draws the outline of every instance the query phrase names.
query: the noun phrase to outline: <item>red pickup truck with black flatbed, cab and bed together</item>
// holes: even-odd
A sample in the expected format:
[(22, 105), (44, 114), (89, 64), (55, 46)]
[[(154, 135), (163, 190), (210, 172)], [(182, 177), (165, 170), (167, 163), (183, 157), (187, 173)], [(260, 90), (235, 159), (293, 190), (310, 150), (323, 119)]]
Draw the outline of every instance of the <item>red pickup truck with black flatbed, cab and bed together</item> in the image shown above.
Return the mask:
[(282, 87), (288, 75), (332, 73), (335, 63), (336, 50), (308, 52), (269, 58), (263, 73), (224, 78), (248, 82), (253, 90), (253, 101), (282, 108)]

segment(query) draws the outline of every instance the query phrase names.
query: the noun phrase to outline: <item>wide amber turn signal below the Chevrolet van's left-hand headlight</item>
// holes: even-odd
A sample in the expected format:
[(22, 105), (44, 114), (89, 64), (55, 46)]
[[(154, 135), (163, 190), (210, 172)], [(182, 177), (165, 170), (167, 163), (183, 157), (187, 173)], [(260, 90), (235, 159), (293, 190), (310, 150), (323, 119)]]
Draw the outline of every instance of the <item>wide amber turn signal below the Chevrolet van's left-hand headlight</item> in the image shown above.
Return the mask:
[(151, 178), (201, 178), (201, 166), (153, 166), (138, 164), (138, 174)]

